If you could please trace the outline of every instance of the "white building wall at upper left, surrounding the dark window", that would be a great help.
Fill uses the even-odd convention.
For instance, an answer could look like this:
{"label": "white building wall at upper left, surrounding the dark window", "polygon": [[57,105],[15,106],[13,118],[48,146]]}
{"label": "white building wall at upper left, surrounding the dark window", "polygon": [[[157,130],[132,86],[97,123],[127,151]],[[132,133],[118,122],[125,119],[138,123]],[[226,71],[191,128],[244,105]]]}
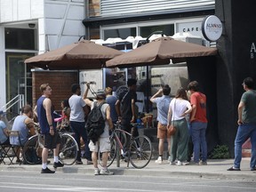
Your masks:
{"label": "white building wall at upper left, surrounding the dark window", "polygon": [[[35,23],[39,54],[75,43],[85,33],[82,23],[85,17],[84,1],[0,1],[0,86],[2,90],[5,91],[4,28],[28,28],[28,23]],[[5,98],[6,93],[0,92],[0,108],[6,103]]]}

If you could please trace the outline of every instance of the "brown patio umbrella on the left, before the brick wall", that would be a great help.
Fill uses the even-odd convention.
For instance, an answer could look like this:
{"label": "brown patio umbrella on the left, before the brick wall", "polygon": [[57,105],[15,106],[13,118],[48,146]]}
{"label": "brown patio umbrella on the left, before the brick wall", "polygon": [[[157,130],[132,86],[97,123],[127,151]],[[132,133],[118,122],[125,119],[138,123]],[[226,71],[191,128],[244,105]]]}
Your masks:
{"label": "brown patio umbrella on the left, before the brick wall", "polygon": [[92,41],[79,41],[59,49],[36,55],[25,63],[36,68],[50,69],[95,69],[102,68],[110,60],[123,52],[95,44]]}

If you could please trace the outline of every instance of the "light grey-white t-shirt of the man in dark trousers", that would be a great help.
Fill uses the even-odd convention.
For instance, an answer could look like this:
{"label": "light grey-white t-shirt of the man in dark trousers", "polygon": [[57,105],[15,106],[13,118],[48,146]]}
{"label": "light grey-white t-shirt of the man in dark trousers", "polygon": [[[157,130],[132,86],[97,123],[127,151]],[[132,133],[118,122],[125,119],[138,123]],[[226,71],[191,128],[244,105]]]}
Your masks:
{"label": "light grey-white t-shirt of the man in dark trousers", "polygon": [[85,102],[82,97],[74,94],[68,100],[70,106],[69,121],[84,122],[84,106]]}

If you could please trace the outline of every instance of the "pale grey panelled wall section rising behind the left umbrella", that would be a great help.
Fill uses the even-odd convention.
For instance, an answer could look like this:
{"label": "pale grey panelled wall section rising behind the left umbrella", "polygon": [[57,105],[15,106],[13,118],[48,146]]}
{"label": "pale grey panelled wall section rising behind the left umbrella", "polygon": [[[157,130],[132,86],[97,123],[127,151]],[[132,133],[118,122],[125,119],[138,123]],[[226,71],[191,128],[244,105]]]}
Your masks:
{"label": "pale grey panelled wall section rising behind the left umbrella", "polygon": [[38,24],[44,28],[39,30],[39,44],[45,46],[40,46],[39,52],[77,42],[85,33],[84,17],[84,0],[45,0],[44,20]]}

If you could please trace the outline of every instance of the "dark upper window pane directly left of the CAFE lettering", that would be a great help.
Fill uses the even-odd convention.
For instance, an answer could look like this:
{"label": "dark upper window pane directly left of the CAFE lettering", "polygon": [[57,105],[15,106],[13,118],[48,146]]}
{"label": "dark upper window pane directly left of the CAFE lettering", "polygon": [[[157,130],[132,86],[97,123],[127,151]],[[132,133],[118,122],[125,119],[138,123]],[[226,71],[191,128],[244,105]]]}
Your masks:
{"label": "dark upper window pane directly left of the CAFE lettering", "polygon": [[148,37],[155,31],[163,31],[165,36],[173,36],[174,24],[140,27],[140,36]]}

